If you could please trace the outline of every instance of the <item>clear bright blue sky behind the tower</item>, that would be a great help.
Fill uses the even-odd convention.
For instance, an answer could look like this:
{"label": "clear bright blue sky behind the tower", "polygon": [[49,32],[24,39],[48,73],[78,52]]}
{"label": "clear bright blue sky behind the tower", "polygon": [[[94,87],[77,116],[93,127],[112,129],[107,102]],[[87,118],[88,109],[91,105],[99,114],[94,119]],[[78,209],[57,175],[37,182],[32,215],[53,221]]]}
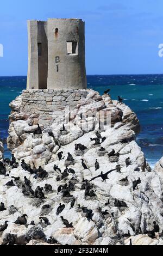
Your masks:
{"label": "clear bright blue sky behind the tower", "polygon": [[0,76],[27,75],[27,20],[83,19],[87,74],[162,74],[162,0],[5,0],[0,4]]}

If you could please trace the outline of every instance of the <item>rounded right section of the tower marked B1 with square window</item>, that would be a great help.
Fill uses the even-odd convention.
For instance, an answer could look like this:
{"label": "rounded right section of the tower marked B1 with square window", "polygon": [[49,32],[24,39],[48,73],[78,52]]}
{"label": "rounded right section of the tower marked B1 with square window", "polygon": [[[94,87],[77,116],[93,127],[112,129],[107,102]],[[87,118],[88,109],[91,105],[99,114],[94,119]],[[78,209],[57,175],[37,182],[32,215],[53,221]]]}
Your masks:
{"label": "rounded right section of the tower marked B1 with square window", "polygon": [[77,19],[49,19],[47,88],[86,87],[85,23]]}

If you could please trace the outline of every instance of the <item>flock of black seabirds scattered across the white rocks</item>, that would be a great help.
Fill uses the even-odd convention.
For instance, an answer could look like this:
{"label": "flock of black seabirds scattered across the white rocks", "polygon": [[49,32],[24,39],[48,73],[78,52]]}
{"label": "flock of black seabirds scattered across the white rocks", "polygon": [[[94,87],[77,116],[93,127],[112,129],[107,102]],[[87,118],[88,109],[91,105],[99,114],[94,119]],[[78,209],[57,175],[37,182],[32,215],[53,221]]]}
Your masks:
{"label": "flock of black seabirds scattered across the white rocks", "polygon": [[[109,90],[105,91],[105,94],[107,94],[109,92]],[[118,96],[118,100],[119,102],[122,102],[123,99],[121,99],[120,96]],[[65,126],[63,125],[63,129],[65,130]],[[42,130],[40,128],[40,126],[38,125],[37,130],[34,132],[34,135],[40,135],[42,134]],[[54,138],[54,135],[52,132],[48,132],[49,136]],[[55,139],[55,138],[54,138]],[[96,132],[96,138],[91,138],[91,141],[95,141],[94,145],[101,145],[104,141],[105,141],[105,137],[102,137],[100,132]],[[57,141],[57,139],[55,139],[55,142],[59,145],[59,142]],[[60,145],[59,145],[60,146]],[[87,148],[85,147],[85,145],[82,144],[75,144],[75,151],[77,150],[86,150]],[[99,149],[99,151],[105,151],[105,149],[103,147],[101,147]],[[63,157],[63,151],[60,151],[58,153],[58,159],[59,161],[65,159],[65,157]],[[119,157],[120,154],[116,153],[115,150],[113,149],[110,153],[108,153],[108,157]],[[75,161],[73,159],[73,156],[68,153],[67,159],[66,161],[69,162],[73,162]],[[131,164],[131,160],[130,158],[126,159],[126,167],[128,167]],[[71,165],[71,164],[70,164]],[[4,176],[9,176],[10,172],[7,174],[7,166],[10,166],[12,169],[17,168],[19,166],[18,162],[16,162],[16,159],[14,157],[14,154],[12,154],[11,160],[10,159],[5,159],[4,162],[0,161],[0,175],[4,175]],[[82,159],[82,166],[83,168],[89,169],[89,167],[87,167],[87,164],[84,162],[84,160]],[[46,172],[45,169],[43,169],[41,166],[36,169],[31,168],[29,164],[27,164],[24,160],[22,160],[21,162],[21,167],[24,171],[29,172],[30,174],[34,175],[34,179],[46,179],[48,177],[48,173]],[[68,166],[66,166],[66,169],[64,170],[64,172],[61,172],[61,169],[59,168],[59,166],[57,166],[56,164],[54,164],[54,171],[58,172],[58,177],[57,177],[57,181],[62,181],[64,180],[66,182],[67,177],[72,174],[74,175],[76,172],[74,169],[72,168],[68,168]],[[98,160],[96,159],[95,162],[95,170],[97,171],[98,169],[100,169],[100,163],[98,162]],[[101,172],[101,174],[93,177],[90,181],[83,179],[82,181],[82,186],[81,186],[81,190],[85,190],[85,199],[87,197],[97,197],[95,191],[93,191],[93,185],[90,183],[91,181],[101,178],[103,182],[106,182],[106,180],[108,180],[108,175],[111,172],[117,171],[118,173],[121,173],[121,166],[118,164],[115,169],[109,170],[106,173]],[[5,186],[16,186],[15,183],[20,181],[20,177],[15,177],[15,176],[11,176],[11,178],[13,180],[7,182],[7,184],[5,184]],[[14,183],[15,181],[15,183]],[[62,198],[70,198],[71,199],[71,203],[70,203],[70,209],[72,209],[74,207],[74,205],[76,204],[76,199],[71,195],[71,192],[76,190],[76,186],[74,185],[76,182],[76,178],[73,178],[67,183],[65,183],[64,185],[60,185],[58,187],[58,194],[61,193],[62,194]],[[128,177],[124,178],[121,180],[121,182],[126,182],[128,181]],[[133,191],[136,189],[137,185],[139,185],[141,183],[141,179],[139,178],[138,180],[133,181]],[[24,196],[32,196],[33,198],[39,198],[39,199],[46,199],[45,197],[45,193],[43,192],[45,190],[46,193],[49,192],[53,192],[53,188],[51,185],[46,184],[45,187],[40,187],[37,186],[35,190],[32,189],[32,184],[31,181],[29,179],[27,179],[27,176],[24,176],[24,184],[21,187],[22,189],[22,193],[24,194]],[[105,206],[110,205],[110,199],[108,199],[108,202],[105,203]],[[122,200],[118,200],[115,199],[114,202],[114,206],[117,208],[127,208],[127,204],[125,202],[123,202]],[[14,208],[14,205],[12,205],[12,207]],[[59,216],[61,214],[62,211],[64,211],[66,205],[65,204],[59,204],[58,208],[57,208],[57,216]],[[42,209],[49,209],[50,205],[43,205]],[[88,221],[92,221],[92,217],[93,217],[93,211],[91,209],[87,209],[86,207],[81,207],[80,205],[77,206],[78,211],[83,212],[83,214],[85,215],[85,217],[87,218]],[[16,209],[16,208],[15,208]],[[5,208],[4,203],[1,203],[0,205],[0,211],[5,211],[7,210]],[[99,213],[101,214],[101,216],[103,218],[105,218],[105,216],[109,215],[108,210],[102,211],[101,208],[98,208]],[[111,213],[112,218],[114,218],[114,212]],[[36,225],[34,221],[32,221],[30,224],[27,224],[27,215],[24,214],[21,217],[18,217],[17,220],[15,221],[15,224],[18,225],[25,225],[26,227],[28,227],[28,225]],[[65,225],[66,228],[73,228],[73,223],[69,223],[66,219],[64,219],[64,217],[60,217],[62,223]],[[44,223],[45,225],[51,225],[51,223],[49,222],[47,217],[40,217],[40,222],[39,224]],[[147,234],[148,236],[154,238],[155,237],[155,232],[159,232],[159,226],[156,224],[156,222],[153,222],[154,224],[154,229],[152,231],[148,231]],[[1,225],[0,227],[0,232],[4,231],[5,229],[7,229],[8,227],[8,221],[5,221],[5,223],[3,225]],[[122,237],[129,237],[130,233],[128,232],[128,234],[123,234],[121,236]],[[163,236],[163,231],[160,234],[160,236]],[[8,235],[7,240],[8,240],[8,245],[14,245],[14,236],[12,235]],[[48,243],[58,243],[57,240],[54,239],[54,237],[49,237],[49,240],[47,241]],[[130,244],[131,244],[131,240],[130,240]]]}

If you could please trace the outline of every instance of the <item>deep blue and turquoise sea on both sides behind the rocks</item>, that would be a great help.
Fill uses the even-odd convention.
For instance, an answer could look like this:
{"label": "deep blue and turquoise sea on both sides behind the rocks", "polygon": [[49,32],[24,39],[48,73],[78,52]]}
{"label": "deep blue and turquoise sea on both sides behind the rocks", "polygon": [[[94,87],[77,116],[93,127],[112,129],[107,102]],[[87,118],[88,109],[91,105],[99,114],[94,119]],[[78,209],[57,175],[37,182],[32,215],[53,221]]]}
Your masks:
{"label": "deep blue and turquoise sea on both sides behind the rocks", "polygon": [[[9,102],[26,88],[27,77],[0,77],[0,137],[7,138]],[[111,89],[112,99],[120,95],[140,119],[137,143],[154,166],[163,155],[163,75],[87,76],[87,86],[103,94]],[[5,156],[9,156],[5,148]]]}

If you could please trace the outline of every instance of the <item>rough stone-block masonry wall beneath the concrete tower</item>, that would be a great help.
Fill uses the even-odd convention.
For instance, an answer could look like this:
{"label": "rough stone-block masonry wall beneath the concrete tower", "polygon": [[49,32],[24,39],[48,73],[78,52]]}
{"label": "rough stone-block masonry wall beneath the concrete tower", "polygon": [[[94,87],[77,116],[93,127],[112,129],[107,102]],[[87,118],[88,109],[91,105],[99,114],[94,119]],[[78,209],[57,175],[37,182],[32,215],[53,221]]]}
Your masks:
{"label": "rough stone-block masonry wall beneath the concrete tower", "polygon": [[73,89],[40,89],[23,90],[20,112],[32,115],[38,123],[47,127],[53,123],[59,123],[65,119],[65,109],[73,111],[79,100],[85,99],[87,90]]}

